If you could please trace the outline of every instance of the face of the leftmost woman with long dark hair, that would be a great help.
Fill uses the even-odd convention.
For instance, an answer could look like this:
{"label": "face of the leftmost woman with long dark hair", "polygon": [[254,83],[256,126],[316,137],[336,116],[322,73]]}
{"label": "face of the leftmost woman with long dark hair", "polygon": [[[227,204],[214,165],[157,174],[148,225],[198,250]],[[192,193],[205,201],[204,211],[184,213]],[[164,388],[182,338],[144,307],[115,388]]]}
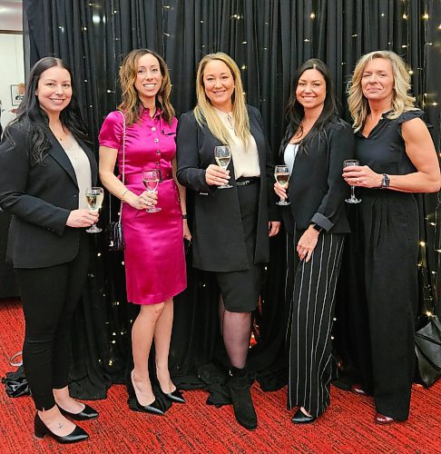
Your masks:
{"label": "face of the leftmost woman with long dark hair", "polygon": [[38,80],[35,95],[40,107],[49,116],[59,115],[71,102],[71,75],[61,66],[46,69]]}

